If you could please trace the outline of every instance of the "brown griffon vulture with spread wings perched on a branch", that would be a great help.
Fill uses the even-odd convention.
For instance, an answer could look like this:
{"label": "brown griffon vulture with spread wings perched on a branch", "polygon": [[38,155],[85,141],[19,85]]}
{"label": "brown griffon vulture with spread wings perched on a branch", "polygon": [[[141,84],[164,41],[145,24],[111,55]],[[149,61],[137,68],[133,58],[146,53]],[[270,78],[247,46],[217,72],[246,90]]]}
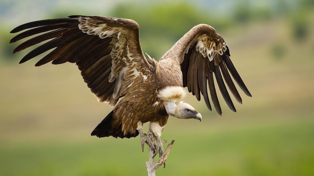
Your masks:
{"label": "brown griffon vulture with spread wings perched on a branch", "polygon": [[113,107],[91,135],[129,138],[139,134],[143,149],[149,137],[143,133],[142,124],[148,122],[148,130],[154,135],[155,153],[161,154],[160,136],[169,115],[202,118],[192,105],[182,101],[187,94],[184,87],[198,100],[202,94],[208,109],[212,110],[210,94],[220,115],[215,82],[233,111],[236,109],[226,87],[242,103],[233,80],[251,96],[230,60],[226,42],[207,24],[194,26],[159,61],[148,54],[145,57],[139,42],[139,25],[131,19],[72,15],[25,23],[11,33],[22,30],[25,31],[13,37],[10,43],[30,38],[13,53],[37,44],[38,47],[27,53],[20,63],[45,51],[49,52],[44,53],[36,66],[50,61],[53,64],[76,63],[98,101],[108,102]]}

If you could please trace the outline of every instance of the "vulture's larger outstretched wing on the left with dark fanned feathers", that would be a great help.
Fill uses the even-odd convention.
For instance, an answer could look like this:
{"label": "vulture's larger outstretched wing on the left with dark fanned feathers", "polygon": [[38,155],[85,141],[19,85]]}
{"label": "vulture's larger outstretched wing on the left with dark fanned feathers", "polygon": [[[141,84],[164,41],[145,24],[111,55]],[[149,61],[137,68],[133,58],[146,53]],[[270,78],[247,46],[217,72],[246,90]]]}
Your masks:
{"label": "vulture's larger outstretched wing on the left with dark fanned feathers", "polygon": [[25,29],[10,42],[32,37],[17,46],[14,53],[45,42],[26,54],[20,63],[48,50],[36,66],[50,61],[75,62],[98,100],[111,106],[126,94],[137,76],[145,77],[152,69],[151,60],[144,57],[139,44],[139,26],[131,19],[69,16],[22,24],[11,33]]}

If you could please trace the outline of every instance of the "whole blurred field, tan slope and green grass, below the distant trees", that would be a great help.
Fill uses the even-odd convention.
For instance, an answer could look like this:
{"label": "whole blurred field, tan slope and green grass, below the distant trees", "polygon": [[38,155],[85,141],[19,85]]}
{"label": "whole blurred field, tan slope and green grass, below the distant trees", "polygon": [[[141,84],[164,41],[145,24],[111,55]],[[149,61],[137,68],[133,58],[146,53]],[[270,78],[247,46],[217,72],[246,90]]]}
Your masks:
{"label": "whole blurred field, tan slope and green grass, below the distant trees", "polygon": [[[253,97],[219,116],[189,96],[203,120],[169,119],[162,138],[176,141],[156,174],[314,175],[313,35],[294,41],[285,20],[221,34]],[[0,66],[0,175],[146,175],[138,137],[89,136],[110,108],[76,66],[34,63]]]}

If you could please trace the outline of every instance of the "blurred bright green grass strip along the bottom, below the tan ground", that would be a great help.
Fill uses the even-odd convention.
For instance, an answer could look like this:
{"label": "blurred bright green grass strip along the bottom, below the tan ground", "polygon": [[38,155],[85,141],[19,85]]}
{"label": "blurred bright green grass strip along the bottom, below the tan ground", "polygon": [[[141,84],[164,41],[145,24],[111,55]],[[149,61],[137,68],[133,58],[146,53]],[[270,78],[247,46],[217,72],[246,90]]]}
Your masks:
{"label": "blurred bright green grass strip along the bottom, below the tan ground", "polygon": [[[310,121],[310,122],[309,122]],[[313,175],[314,121],[173,132],[158,175]],[[187,124],[180,124],[188,127]],[[172,132],[170,132],[172,131]],[[185,130],[186,131],[186,130]],[[166,134],[167,133],[167,134]],[[146,175],[139,139],[23,142],[1,147],[1,175]]]}

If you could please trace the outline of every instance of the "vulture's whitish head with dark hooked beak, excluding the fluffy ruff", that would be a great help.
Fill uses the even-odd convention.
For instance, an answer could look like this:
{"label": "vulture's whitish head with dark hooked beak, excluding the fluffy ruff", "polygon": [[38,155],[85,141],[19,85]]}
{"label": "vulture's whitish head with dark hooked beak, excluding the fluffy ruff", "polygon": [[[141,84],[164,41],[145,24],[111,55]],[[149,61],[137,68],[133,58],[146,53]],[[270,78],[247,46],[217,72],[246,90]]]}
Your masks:
{"label": "vulture's whitish head with dark hooked beak, excluding the fluffy ruff", "polygon": [[165,101],[165,108],[168,114],[177,118],[195,118],[201,121],[202,115],[195,110],[195,108],[189,103],[180,101],[178,105],[173,101]]}

